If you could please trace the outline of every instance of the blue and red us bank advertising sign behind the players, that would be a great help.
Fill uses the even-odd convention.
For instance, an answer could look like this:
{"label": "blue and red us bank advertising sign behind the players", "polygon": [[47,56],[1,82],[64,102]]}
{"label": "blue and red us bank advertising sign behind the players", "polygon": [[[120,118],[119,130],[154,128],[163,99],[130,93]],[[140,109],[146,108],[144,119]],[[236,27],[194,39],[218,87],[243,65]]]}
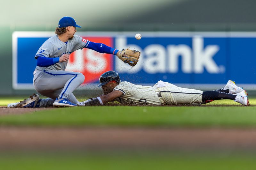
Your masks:
{"label": "blue and red us bank advertising sign behind the players", "polygon": [[[163,80],[183,87],[210,88],[231,79],[247,89],[256,87],[256,33],[246,32],[80,32],[77,35],[118,50],[141,52],[133,68],[117,56],[83,48],[70,55],[66,70],[85,76],[83,87],[96,86],[108,70],[119,73],[122,81],[153,85]],[[13,88],[33,89],[34,58],[52,32],[14,32]],[[221,87],[220,87],[221,88]]]}

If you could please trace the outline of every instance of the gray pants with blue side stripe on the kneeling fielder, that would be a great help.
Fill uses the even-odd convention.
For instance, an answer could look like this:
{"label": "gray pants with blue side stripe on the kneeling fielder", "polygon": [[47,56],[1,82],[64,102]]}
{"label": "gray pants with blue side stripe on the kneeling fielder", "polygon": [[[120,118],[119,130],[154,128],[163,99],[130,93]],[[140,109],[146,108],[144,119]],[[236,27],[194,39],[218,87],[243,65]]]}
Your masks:
{"label": "gray pants with blue side stripe on the kneeling fielder", "polygon": [[41,99],[40,107],[52,106],[56,98],[65,98],[74,104],[77,99],[72,93],[84,82],[84,75],[79,72],[62,70],[34,71],[34,88],[47,99]]}

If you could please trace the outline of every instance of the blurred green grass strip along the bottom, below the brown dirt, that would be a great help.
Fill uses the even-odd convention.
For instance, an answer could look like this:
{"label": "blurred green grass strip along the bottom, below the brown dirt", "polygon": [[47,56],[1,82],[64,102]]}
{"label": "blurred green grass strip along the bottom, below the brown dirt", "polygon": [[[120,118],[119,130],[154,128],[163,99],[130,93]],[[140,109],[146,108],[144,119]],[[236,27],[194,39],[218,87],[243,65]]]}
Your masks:
{"label": "blurred green grass strip along the bottom, below the brown dirt", "polygon": [[[255,169],[253,155],[182,155],[182,154],[17,154],[0,157],[5,170],[240,170]],[[15,163],[14,163],[15,162]]]}

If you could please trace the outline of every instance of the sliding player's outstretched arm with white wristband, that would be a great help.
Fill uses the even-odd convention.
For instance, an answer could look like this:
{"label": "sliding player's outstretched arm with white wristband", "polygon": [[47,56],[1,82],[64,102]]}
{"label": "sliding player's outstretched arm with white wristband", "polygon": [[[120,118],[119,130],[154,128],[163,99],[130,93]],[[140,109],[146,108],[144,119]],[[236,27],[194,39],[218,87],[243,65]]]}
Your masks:
{"label": "sliding player's outstretched arm with white wristband", "polygon": [[106,95],[101,95],[100,97],[97,97],[96,99],[89,101],[85,103],[85,106],[100,106],[108,103],[109,101],[112,101],[118,97],[123,95],[123,92],[119,90],[114,90],[113,92],[110,92]]}

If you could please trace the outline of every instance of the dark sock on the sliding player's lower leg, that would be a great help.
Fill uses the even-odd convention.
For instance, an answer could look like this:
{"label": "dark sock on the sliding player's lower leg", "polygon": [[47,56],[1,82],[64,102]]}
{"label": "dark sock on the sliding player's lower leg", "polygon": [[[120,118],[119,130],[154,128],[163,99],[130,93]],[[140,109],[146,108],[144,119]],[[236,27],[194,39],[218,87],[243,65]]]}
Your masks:
{"label": "dark sock on the sliding player's lower leg", "polygon": [[207,100],[221,100],[221,99],[230,99],[236,100],[236,95],[219,92],[219,91],[206,91],[203,92],[203,104],[206,103]]}

